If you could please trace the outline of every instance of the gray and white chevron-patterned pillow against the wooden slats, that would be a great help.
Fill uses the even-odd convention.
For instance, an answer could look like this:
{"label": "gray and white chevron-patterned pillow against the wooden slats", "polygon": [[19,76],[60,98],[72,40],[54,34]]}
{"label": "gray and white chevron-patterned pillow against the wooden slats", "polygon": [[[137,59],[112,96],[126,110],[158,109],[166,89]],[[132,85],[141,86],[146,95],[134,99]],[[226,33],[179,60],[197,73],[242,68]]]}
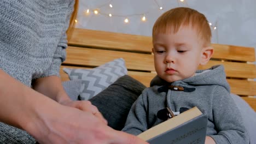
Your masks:
{"label": "gray and white chevron-patterned pillow against the wooden slats", "polygon": [[94,69],[63,68],[70,80],[82,80],[82,93],[79,98],[88,100],[106,89],[119,77],[127,74],[127,68],[123,58],[103,64]]}

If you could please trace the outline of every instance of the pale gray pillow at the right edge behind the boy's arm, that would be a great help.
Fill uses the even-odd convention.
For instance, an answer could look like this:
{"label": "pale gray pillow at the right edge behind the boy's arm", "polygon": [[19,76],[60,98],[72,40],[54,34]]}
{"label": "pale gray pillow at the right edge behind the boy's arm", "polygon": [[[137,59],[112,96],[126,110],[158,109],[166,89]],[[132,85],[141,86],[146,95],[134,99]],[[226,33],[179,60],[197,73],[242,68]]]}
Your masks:
{"label": "pale gray pillow at the right edge behind the boy's arm", "polygon": [[256,112],[238,95],[232,93],[230,95],[241,112],[243,122],[250,136],[250,143],[256,143]]}

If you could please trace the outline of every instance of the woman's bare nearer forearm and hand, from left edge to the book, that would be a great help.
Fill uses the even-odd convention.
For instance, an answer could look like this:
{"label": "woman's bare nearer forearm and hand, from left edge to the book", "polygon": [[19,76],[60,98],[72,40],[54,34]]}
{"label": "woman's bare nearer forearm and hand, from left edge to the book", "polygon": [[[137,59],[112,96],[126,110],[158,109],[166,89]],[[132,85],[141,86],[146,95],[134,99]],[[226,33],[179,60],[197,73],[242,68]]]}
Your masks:
{"label": "woman's bare nearer forearm and hand, from left edge to the book", "polygon": [[56,103],[1,69],[0,80],[0,121],[26,130],[39,143],[146,143],[107,127],[90,111]]}

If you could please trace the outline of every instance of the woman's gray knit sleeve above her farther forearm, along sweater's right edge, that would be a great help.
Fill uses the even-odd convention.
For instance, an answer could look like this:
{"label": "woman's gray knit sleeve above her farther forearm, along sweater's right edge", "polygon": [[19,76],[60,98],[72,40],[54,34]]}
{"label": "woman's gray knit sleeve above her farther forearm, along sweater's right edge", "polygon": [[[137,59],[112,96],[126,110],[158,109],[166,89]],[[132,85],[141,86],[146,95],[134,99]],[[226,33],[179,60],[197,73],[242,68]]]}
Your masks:
{"label": "woman's gray knit sleeve above her farther forearm, along sweater's right edge", "polygon": [[68,6],[67,15],[66,15],[66,23],[62,30],[62,36],[60,38],[60,41],[57,45],[57,48],[54,53],[53,61],[51,62],[50,67],[44,71],[43,75],[41,77],[46,76],[60,76],[60,65],[62,62],[66,59],[66,48],[67,48],[67,34],[66,31],[69,26],[69,20],[71,18],[71,14],[74,10],[74,1],[71,1],[71,3]]}

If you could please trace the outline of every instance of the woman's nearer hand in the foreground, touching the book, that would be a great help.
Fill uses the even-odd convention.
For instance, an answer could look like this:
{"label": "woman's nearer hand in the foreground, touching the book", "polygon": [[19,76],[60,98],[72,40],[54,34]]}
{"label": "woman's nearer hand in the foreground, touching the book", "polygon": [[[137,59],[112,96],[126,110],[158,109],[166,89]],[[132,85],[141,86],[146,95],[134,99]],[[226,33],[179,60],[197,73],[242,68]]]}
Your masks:
{"label": "woman's nearer hand in the foreground, touching the book", "polygon": [[136,136],[108,127],[87,110],[60,104],[40,107],[39,116],[27,125],[27,130],[39,143],[147,143]]}

